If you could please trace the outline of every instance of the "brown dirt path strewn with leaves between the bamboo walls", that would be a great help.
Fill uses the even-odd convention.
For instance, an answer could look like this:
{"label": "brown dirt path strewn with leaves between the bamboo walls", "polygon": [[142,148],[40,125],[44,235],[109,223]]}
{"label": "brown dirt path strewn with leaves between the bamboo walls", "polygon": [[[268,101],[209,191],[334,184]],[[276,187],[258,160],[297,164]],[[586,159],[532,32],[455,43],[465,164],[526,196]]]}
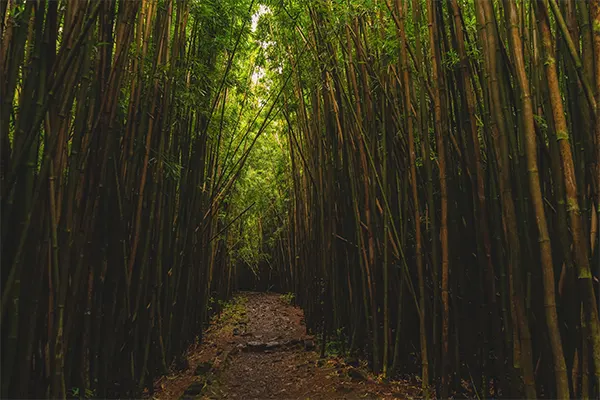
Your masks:
{"label": "brown dirt path strewn with leaves between the bamboo walls", "polygon": [[186,356],[185,368],[158,379],[149,398],[412,399],[421,394],[417,382],[384,382],[357,361],[320,358],[302,310],[279,294],[236,295]]}

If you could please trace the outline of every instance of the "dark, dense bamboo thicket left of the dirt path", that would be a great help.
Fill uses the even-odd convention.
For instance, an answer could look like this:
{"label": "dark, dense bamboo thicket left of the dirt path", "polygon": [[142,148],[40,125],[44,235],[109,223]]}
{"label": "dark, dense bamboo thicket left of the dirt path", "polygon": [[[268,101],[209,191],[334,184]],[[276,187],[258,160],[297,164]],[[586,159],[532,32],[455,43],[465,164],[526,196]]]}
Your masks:
{"label": "dark, dense bamboo thicket left of the dirt path", "polygon": [[231,293],[249,7],[0,2],[3,398],[138,397]]}

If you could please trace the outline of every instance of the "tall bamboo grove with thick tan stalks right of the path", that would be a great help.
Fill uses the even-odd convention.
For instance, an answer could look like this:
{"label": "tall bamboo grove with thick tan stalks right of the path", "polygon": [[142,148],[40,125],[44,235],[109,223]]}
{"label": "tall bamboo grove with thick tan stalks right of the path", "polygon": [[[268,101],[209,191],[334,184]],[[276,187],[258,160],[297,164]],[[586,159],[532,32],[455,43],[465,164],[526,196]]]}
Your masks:
{"label": "tall bamboo grove with thick tan stalks right of the path", "polygon": [[285,240],[323,344],[420,374],[425,396],[598,395],[599,9],[315,1],[274,18],[293,74]]}

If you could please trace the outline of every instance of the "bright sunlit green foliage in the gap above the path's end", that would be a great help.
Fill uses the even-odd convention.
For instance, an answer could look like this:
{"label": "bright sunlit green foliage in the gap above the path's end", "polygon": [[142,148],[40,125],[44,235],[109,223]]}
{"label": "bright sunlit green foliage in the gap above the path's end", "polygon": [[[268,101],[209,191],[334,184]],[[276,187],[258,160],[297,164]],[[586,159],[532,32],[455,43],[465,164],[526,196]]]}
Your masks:
{"label": "bright sunlit green foliage in the gap above the path's end", "polygon": [[231,262],[249,267],[256,275],[259,268],[270,265],[277,238],[284,234],[289,203],[289,154],[285,137],[287,124],[276,112],[266,119],[266,110],[273,102],[273,93],[282,83],[283,65],[287,65],[281,40],[275,39],[281,31],[275,24],[278,16],[267,5],[257,6],[253,17],[254,29],[245,48],[245,56],[236,60],[239,72],[230,82],[231,89],[223,112],[224,120],[213,121],[213,134],[223,125],[222,151],[231,150],[232,156],[223,158],[222,168],[232,170],[240,161],[242,150],[252,145],[252,152],[244,161],[244,169],[228,198],[230,221],[252,206],[236,221],[228,234]]}

